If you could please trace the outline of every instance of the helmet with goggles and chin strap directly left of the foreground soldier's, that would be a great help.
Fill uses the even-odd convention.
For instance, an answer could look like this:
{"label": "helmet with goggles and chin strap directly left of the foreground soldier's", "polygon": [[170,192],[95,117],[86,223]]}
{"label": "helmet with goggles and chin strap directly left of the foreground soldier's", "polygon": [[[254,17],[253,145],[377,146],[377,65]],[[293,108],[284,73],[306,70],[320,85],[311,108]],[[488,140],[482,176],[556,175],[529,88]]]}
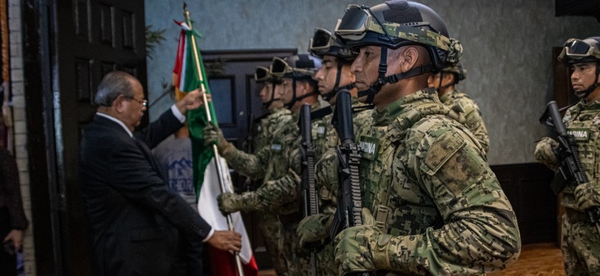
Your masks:
{"label": "helmet with goggles and chin strap directly left of the foreground soldier's", "polygon": [[321,97],[330,101],[339,90],[342,89],[352,89],[354,88],[354,83],[350,83],[346,86],[339,86],[339,81],[341,79],[341,68],[344,64],[350,64],[354,59],[356,59],[358,53],[348,49],[346,46],[343,46],[343,43],[337,37],[331,35],[331,32],[325,29],[316,28],[314,29],[314,34],[312,39],[310,39],[310,43],[308,46],[308,52],[310,54],[323,59],[325,56],[336,57],[337,59],[337,75],[335,77],[335,84],[333,90],[321,94]]}

